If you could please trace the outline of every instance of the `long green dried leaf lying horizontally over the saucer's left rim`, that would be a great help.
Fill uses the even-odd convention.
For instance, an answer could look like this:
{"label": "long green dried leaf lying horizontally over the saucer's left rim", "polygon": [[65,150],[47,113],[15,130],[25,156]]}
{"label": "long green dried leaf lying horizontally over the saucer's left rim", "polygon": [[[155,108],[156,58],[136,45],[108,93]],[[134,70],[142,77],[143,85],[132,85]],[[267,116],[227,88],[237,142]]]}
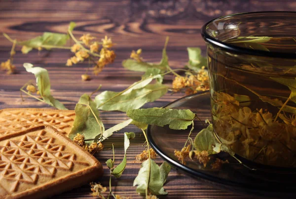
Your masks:
{"label": "long green dried leaf lying horizontally over the saucer's left rim", "polygon": [[188,109],[131,109],[126,114],[138,122],[157,126],[169,125],[171,129],[186,129],[195,117],[195,114]]}

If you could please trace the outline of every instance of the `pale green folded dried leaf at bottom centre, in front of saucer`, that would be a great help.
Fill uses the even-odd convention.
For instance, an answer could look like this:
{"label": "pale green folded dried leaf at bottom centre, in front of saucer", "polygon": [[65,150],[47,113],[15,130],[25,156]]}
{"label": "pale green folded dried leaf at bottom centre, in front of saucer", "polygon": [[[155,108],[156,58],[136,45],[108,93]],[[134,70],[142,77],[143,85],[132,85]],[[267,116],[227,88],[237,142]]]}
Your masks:
{"label": "pale green folded dried leaf at bottom centre, in front of saucer", "polygon": [[151,159],[143,162],[138,176],[135,178],[133,184],[133,186],[138,185],[136,192],[144,194],[146,193],[146,187],[148,186],[151,194],[166,195],[167,192],[164,191],[163,184],[170,172],[170,169],[170,166],[165,162],[160,167]]}

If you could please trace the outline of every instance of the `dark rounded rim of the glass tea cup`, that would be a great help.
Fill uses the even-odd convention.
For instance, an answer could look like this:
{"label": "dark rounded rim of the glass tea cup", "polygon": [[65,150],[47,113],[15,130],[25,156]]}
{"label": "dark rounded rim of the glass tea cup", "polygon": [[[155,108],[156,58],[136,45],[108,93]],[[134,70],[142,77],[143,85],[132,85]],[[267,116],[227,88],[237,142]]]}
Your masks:
{"label": "dark rounded rim of the glass tea cup", "polygon": [[214,37],[210,36],[206,28],[209,24],[214,22],[218,19],[223,19],[231,16],[239,16],[239,15],[246,15],[246,14],[271,14],[271,13],[294,13],[296,14],[296,11],[260,11],[260,12],[242,12],[242,13],[236,13],[236,14],[230,14],[230,15],[224,15],[222,17],[215,18],[209,22],[207,22],[203,27],[201,28],[201,36],[206,42],[209,42],[212,45],[215,45],[217,47],[222,48],[223,50],[239,53],[239,54],[248,54],[253,56],[261,56],[261,57],[278,57],[278,58],[291,58],[296,59],[296,53],[283,53],[283,52],[269,52],[269,51],[262,51],[262,50],[255,50],[255,49],[248,49],[244,47],[235,46],[229,43],[222,42],[218,39],[215,39]]}

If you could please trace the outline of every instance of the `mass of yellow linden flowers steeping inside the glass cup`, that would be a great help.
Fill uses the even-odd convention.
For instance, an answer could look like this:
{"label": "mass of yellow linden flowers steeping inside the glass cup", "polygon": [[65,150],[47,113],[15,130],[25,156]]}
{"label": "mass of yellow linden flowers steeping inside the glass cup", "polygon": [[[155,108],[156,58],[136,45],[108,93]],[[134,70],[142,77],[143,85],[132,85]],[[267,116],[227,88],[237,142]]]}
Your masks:
{"label": "mass of yellow linden flowers steeping inside the glass cup", "polygon": [[261,164],[296,166],[295,114],[252,111],[250,103],[239,102],[224,92],[214,92],[212,99],[213,125],[235,153]]}

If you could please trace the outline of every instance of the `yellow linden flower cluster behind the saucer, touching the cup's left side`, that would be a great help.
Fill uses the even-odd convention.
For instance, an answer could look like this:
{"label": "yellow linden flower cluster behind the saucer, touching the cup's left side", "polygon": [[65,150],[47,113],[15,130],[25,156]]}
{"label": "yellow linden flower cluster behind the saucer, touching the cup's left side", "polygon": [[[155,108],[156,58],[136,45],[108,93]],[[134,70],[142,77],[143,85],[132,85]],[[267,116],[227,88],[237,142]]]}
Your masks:
{"label": "yellow linden flower cluster behind the saucer, touching the cup's left side", "polygon": [[185,77],[176,76],[172,86],[175,92],[180,91],[182,88],[186,88],[186,95],[196,93],[198,91],[208,90],[210,87],[208,72],[203,66],[196,75],[189,75]]}

